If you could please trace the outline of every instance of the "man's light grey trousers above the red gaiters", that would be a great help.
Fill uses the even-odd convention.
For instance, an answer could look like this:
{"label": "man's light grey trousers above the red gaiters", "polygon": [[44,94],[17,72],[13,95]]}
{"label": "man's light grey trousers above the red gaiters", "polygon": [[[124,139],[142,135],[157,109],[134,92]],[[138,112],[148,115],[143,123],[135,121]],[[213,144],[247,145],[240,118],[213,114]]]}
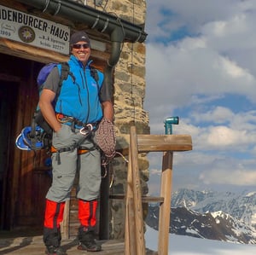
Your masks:
{"label": "man's light grey trousers above the red gaiters", "polygon": [[[62,125],[61,130],[53,134],[55,148],[67,148],[83,139],[79,130],[73,132],[69,125]],[[85,139],[81,144],[84,148],[93,148],[93,142]],[[70,197],[76,172],[79,171],[77,197],[81,200],[96,200],[99,197],[101,177],[101,154],[97,149],[85,154],[78,154],[78,149],[62,152],[61,164],[58,164],[56,154],[52,155],[53,180],[46,195],[48,200],[66,201]]]}

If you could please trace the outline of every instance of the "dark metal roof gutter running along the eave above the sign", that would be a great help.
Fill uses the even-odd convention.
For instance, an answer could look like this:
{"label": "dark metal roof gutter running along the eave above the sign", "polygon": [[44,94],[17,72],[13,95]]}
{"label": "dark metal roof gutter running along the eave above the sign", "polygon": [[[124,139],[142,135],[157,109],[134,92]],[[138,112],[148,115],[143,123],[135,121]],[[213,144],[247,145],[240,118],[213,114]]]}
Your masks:
{"label": "dark metal roof gutter running along the eave above the sign", "polygon": [[[96,29],[99,32],[111,35],[117,28],[122,28],[124,31],[123,41],[143,43],[147,38],[147,33],[144,32],[144,25],[139,26],[132,24],[129,21],[122,20],[115,15],[93,9],[90,6],[82,5],[70,0],[17,0],[20,3],[25,3],[36,9],[40,9],[44,13],[52,15],[60,15],[68,20],[82,22],[88,24],[90,28]],[[122,42],[123,42],[122,41]]]}

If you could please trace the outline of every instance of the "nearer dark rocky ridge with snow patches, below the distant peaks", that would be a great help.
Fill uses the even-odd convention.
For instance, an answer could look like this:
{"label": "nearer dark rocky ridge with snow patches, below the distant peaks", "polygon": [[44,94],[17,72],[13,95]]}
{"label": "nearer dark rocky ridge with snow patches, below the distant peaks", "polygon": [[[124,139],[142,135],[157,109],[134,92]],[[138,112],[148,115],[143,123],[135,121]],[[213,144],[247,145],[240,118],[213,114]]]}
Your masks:
{"label": "nearer dark rocky ridge with snow patches, below the distant peaks", "polygon": [[[146,223],[158,230],[159,206],[148,206]],[[198,238],[256,244],[256,230],[224,212],[200,213],[185,207],[172,208],[169,232]]]}

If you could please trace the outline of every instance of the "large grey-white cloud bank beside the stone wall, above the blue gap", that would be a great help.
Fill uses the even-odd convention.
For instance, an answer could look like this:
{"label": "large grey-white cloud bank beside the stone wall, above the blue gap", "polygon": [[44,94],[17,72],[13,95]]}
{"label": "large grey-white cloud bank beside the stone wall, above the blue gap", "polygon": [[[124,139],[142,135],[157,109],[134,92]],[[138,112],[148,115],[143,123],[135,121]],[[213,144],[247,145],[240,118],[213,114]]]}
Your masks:
{"label": "large grey-white cloud bank beside the stone wall, above the blue gap", "polygon": [[206,48],[198,38],[186,38],[177,45],[148,43],[146,73],[148,109],[183,107],[192,103],[191,97],[198,93],[235,93],[256,101],[253,75],[235,61]]}

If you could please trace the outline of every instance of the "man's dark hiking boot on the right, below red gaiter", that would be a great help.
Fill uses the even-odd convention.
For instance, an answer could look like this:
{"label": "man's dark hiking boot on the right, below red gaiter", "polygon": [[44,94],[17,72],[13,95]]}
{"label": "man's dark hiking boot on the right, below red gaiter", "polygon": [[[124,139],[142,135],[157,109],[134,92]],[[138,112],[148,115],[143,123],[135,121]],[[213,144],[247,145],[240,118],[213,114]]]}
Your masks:
{"label": "man's dark hiking boot on the right, below red gaiter", "polygon": [[96,244],[94,238],[94,231],[88,230],[84,227],[80,227],[78,249],[87,252],[100,252],[102,251],[102,246]]}

